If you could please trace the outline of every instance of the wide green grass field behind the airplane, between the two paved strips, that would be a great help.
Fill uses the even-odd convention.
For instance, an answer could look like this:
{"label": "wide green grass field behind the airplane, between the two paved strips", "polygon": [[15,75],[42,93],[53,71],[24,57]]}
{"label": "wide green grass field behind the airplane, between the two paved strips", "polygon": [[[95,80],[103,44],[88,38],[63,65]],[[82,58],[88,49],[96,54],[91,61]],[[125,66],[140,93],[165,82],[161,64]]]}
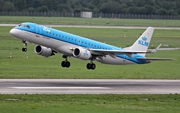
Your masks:
{"label": "wide green grass field behind the airplane, between the two paved strips", "polygon": [[[175,61],[152,62],[147,65],[113,66],[98,62],[97,69],[89,71],[86,64],[89,61],[69,58],[69,69],[60,66],[61,54],[44,58],[34,53],[34,44],[28,45],[28,52],[21,52],[20,40],[9,34],[12,27],[0,28],[0,78],[104,78],[104,79],[180,79],[180,51],[158,51],[148,54],[148,57],[174,58]],[[126,47],[134,43],[137,36],[144,30],[139,29],[92,29],[92,28],[57,28],[77,35],[106,42],[112,45]],[[124,38],[126,34],[126,38]],[[179,30],[155,30],[151,47],[160,43],[179,47]],[[12,58],[9,58],[10,53]],[[28,56],[28,58],[27,58]],[[131,71],[129,71],[131,70]]]}

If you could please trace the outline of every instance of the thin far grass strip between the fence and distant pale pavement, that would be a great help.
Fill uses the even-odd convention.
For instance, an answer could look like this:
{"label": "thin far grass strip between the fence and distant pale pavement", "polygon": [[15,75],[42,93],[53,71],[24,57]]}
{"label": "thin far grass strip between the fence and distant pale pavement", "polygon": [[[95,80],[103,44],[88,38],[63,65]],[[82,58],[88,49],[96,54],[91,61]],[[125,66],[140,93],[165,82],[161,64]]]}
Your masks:
{"label": "thin far grass strip between the fence and distant pale pavement", "polygon": [[38,24],[60,25],[101,25],[101,26],[171,26],[179,27],[179,20],[155,19],[111,19],[111,18],[67,18],[67,17],[28,17],[28,16],[0,16],[0,23],[20,24],[35,22]]}

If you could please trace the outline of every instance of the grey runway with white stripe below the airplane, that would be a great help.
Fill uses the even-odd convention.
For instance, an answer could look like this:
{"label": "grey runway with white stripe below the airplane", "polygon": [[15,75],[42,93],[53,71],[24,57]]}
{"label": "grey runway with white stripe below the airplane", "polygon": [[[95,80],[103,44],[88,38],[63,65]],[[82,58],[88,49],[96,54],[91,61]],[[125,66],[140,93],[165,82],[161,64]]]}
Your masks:
{"label": "grey runway with white stripe below the airplane", "polygon": [[180,80],[0,79],[0,94],[180,94]]}

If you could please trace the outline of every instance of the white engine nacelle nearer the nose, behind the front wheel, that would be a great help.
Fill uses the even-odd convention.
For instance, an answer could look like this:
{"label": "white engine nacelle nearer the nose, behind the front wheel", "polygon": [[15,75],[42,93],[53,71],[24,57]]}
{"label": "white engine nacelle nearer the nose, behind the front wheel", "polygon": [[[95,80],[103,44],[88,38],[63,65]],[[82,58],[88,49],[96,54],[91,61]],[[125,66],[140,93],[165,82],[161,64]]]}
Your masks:
{"label": "white engine nacelle nearer the nose, behind the front wheel", "polygon": [[40,45],[35,46],[34,51],[36,54],[44,57],[49,57],[54,55],[52,49]]}

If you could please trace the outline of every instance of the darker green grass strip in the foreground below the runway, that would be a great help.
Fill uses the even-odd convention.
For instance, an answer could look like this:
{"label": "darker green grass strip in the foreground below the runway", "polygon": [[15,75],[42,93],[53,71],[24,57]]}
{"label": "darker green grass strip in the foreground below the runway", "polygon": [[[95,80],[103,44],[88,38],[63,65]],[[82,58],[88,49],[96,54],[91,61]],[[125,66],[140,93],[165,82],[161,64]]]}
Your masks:
{"label": "darker green grass strip in the foreground below the runway", "polygon": [[0,95],[1,113],[179,113],[180,95]]}

